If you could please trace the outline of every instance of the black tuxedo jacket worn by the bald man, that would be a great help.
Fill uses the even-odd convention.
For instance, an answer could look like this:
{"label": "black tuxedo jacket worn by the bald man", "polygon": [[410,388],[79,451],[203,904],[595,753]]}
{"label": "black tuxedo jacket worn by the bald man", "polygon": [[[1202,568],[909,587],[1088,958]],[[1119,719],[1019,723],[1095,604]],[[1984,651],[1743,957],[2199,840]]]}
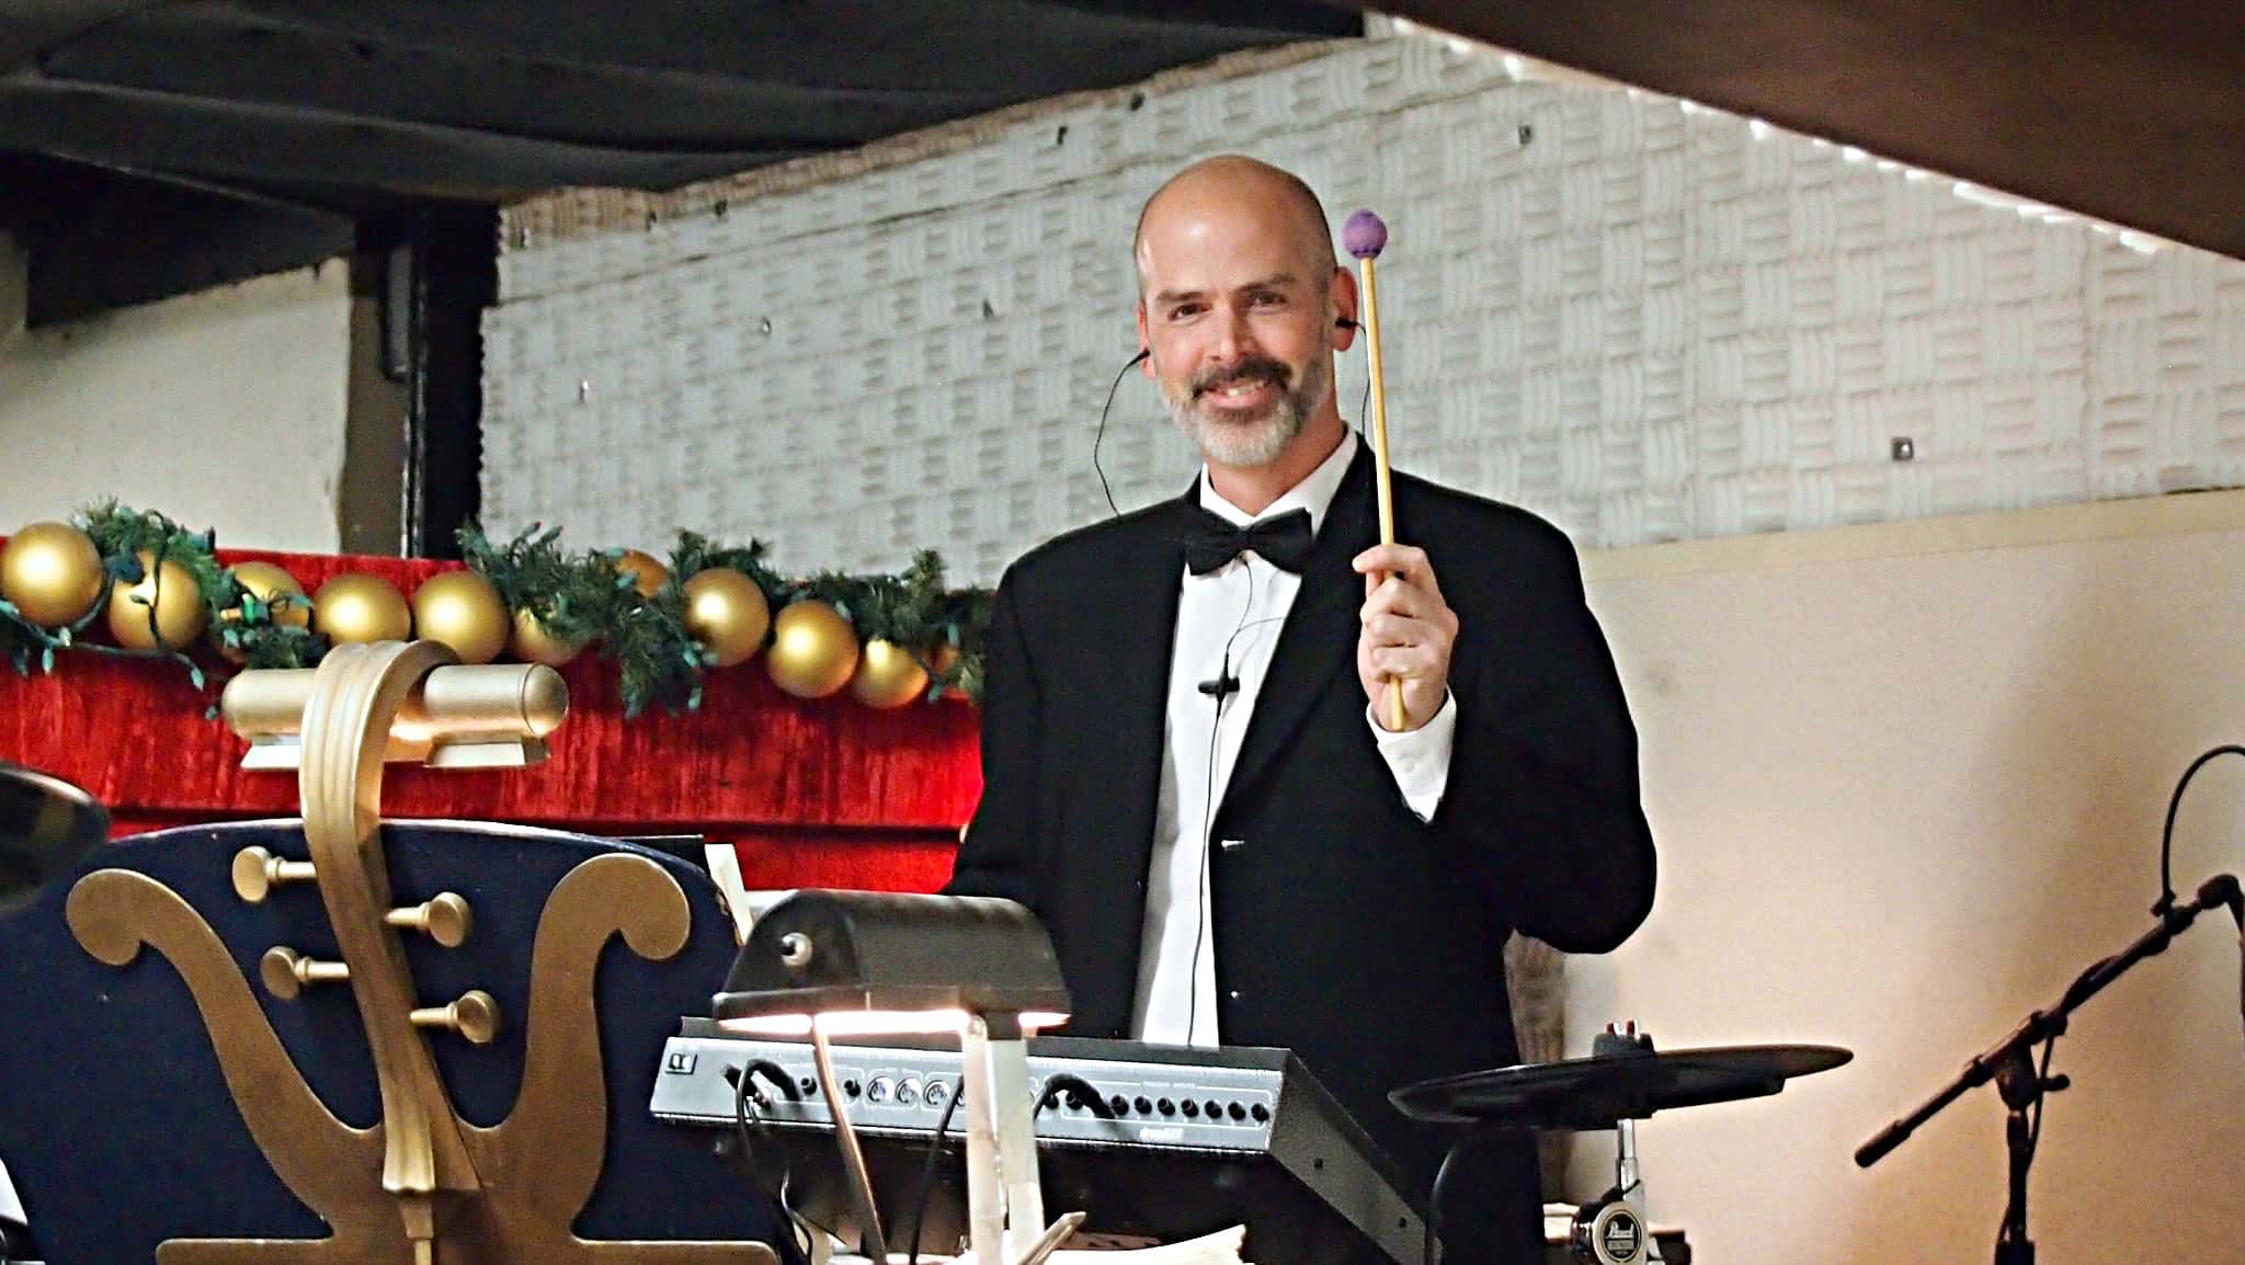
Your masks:
{"label": "black tuxedo jacket worn by the bald man", "polygon": [[[1064,535],[1015,562],[995,600],[983,798],[950,890],[1037,912],[1075,1036],[1131,1022],[1194,506],[1188,492]],[[1208,892],[1221,1038],[1300,1054],[1423,1193],[1448,1139],[1387,1092],[1518,1063],[1506,937],[1621,944],[1652,905],[1655,856],[1637,732],[1567,537],[1401,472],[1394,515],[1459,618],[1441,807],[1432,822],[1410,811],[1365,719],[1365,582],[1349,559],[1378,542],[1378,519],[1358,449],[1215,809]],[[1502,1193],[1513,1236],[1533,1225],[1518,1220],[1533,1218],[1527,1164],[1515,1146],[1502,1191],[1473,1182],[1475,1204]]]}

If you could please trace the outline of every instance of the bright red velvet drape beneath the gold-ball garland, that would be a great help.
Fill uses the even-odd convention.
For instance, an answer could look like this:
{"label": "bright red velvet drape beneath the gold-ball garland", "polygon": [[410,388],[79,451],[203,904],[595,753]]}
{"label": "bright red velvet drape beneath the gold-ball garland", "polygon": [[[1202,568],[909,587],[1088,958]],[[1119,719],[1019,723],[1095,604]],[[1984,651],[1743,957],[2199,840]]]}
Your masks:
{"label": "bright red velvet drape beneath the gold-ball garland", "polygon": [[[406,595],[458,564],[222,550],[276,562],[308,593],[343,571]],[[97,622],[99,627],[99,622]],[[534,768],[447,773],[391,766],[384,813],[469,818],[590,834],[732,840],[750,888],[934,890],[981,793],[977,712],[961,701],[876,712],[849,697],[801,701],[761,661],[712,672],[691,715],[626,721],[613,665],[561,672],[570,717]],[[182,822],[294,816],[290,773],[242,773],[242,739],[204,719],[173,663],[58,656],[52,676],[0,667],[0,759],[99,795],[119,834]]]}

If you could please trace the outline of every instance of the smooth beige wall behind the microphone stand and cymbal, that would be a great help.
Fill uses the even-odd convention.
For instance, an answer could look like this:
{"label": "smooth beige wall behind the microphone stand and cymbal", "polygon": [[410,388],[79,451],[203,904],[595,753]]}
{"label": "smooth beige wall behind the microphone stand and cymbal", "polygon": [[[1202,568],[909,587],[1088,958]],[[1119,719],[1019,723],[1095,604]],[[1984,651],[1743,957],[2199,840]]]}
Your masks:
{"label": "smooth beige wall behind the microphone stand and cymbal", "polygon": [[[2009,542],[2009,544],[2007,544]],[[1704,1261],[1985,1261],[2003,1108],[1850,1155],[2151,926],[2184,766],[2245,739],[2245,497],[2207,494],[1592,555],[1661,843],[1652,919],[1569,962],[1569,1054],[1832,1043],[1854,1063],[1639,1130]],[[2193,782],[2175,881],[2245,867],[2245,759]],[[2052,1265],[2234,1263],[2238,937],[2200,921],[2077,1018],[2032,1234]],[[1578,1141],[1576,1193],[1612,1180]]]}

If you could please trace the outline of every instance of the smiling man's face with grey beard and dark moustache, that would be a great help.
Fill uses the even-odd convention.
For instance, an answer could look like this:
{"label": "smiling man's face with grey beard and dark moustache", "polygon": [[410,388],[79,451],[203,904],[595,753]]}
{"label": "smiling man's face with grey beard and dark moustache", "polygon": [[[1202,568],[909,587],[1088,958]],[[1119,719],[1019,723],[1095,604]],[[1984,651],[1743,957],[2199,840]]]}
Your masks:
{"label": "smiling man's face with grey beard and dark moustache", "polygon": [[1210,465],[1271,465],[1331,395],[1334,270],[1295,220],[1259,191],[1190,193],[1147,213],[1147,371]]}

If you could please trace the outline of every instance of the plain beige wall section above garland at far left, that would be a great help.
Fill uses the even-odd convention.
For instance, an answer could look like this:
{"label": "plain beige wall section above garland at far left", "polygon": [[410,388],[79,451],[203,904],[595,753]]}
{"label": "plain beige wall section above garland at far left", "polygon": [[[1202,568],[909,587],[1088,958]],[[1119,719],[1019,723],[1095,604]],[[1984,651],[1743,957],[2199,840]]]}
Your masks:
{"label": "plain beige wall section above garland at far left", "polygon": [[[13,261],[13,263],[9,263]],[[0,533],[101,497],[220,544],[335,553],[350,380],[343,261],[22,330],[0,249]]]}

